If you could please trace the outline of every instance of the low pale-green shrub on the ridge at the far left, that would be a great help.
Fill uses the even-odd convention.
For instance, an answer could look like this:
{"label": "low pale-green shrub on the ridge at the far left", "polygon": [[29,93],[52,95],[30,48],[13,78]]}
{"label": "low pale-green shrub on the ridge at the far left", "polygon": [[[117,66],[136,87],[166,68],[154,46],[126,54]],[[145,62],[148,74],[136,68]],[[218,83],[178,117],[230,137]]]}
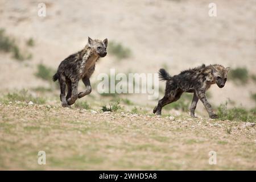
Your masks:
{"label": "low pale-green shrub on the ridge at the far left", "polygon": [[46,100],[42,97],[33,97],[28,93],[27,90],[23,89],[19,92],[8,93],[4,96],[5,101],[21,101],[21,102],[30,102],[32,101],[34,104],[45,104]]}

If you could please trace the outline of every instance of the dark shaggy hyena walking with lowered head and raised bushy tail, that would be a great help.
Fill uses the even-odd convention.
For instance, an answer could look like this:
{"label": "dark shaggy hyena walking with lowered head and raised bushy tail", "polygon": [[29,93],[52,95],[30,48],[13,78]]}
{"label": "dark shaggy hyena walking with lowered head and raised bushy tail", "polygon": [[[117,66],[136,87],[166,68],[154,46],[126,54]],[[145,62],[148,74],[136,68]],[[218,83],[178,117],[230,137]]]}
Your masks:
{"label": "dark shaggy hyena walking with lowered head and raised bushy tail", "polygon": [[210,85],[217,84],[219,88],[223,88],[226,82],[229,68],[222,65],[214,64],[201,65],[200,67],[188,69],[179,75],[171,77],[164,69],[159,70],[160,80],[166,80],[166,90],[164,97],[159,100],[158,105],[154,108],[153,113],[161,114],[162,107],[179,100],[183,92],[194,93],[192,104],[190,107],[191,117],[195,117],[195,109],[197,101],[200,99],[205,109],[207,109],[210,118],[217,118],[217,114],[213,113],[212,106],[205,97],[205,92]]}

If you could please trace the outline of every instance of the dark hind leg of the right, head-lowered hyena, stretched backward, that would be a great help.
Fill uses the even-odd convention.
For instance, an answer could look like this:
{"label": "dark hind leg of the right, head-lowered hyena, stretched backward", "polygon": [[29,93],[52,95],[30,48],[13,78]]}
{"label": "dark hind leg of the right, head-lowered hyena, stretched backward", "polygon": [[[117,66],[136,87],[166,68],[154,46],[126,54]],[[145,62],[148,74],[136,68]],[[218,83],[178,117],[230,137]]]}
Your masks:
{"label": "dark hind leg of the right, head-lowered hyena, stretched backward", "polygon": [[158,105],[155,106],[153,113],[161,115],[163,106],[179,100],[182,93],[183,92],[181,90],[177,90],[177,92],[171,92],[170,94],[166,94],[161,100],[158,101]]}

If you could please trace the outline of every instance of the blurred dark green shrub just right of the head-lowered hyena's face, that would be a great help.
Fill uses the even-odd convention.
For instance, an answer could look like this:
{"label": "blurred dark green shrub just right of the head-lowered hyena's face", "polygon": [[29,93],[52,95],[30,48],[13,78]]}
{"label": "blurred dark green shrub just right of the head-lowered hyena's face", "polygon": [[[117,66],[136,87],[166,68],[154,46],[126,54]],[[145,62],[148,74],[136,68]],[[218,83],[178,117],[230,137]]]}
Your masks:
{"label": "blurred dark green shrub just right of the head-lowered hyena's face", "polygon": [[247,69],[240,67],[231,69],[228,77],[234,81],[239,81],[241,84],[245,84],[249,78]]}

